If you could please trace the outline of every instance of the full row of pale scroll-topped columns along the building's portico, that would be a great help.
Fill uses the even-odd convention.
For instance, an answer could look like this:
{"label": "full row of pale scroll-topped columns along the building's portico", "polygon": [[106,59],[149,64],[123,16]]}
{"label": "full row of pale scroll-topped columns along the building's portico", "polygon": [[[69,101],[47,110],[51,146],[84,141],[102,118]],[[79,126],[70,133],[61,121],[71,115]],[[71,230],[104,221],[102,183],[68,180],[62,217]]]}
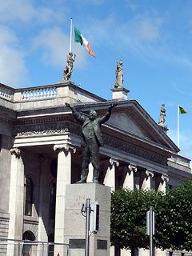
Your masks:
{"label": "full row of pale scroll-topped columns along the building's portico", "polygon": [[[65,211],[65,196],[66,196],[66,184],[71,182],[71,154],[75,153],[75,147],[66,144],[54,145],[54,151],[58,153],[58,171],[57,171],[57,190],[56,190],[56,210],[55,210],[55,227],[54,227],[54,242],[64,242],[64,211]],[[9,226],[9,238],[22,238],[22,225],[23,225],[23,194],[24,194],[24,164],[22,162],[21,151],[18,149],[11,150],[11,170],[10,170],[10,226]],[[41,165],[43,168],[48,168],[45,159]],[[103,171],[103,184],[110,186],[111,190],[116,190],[115,187],[115,173],[116,170],[122,171],[122,186],[123,188],[129,188],[134,190],[134,176],[139,177],[139,188],[146,189],[151,187],[152,178],[155,179],[155,189],[158,191],[166,190],[166,182],[169,180],[166,174],[158,174],[155,170],[144,170],[141,168],[138,170],[138,166],[134,163],[127,163],[125,166],[119,166],[117,158],[111,157],[110,160],[102,161]],[[93,166],[89,166],[89,175],[87,182],[92,182]],[[43,177],[40,177],[40,182],[43,182]],[[39,202],[40,215],[49,202],[42,202],[43,192],[40,190]],[[44,213],[45,214],[45,213]],[[48,219],[48,218],[47,218]],[[41,216],[38,226],[38,239],[46,239],[45,223],[42,223]],[[161,250],[155,250],[155,256],[166,255]],[[129,251],[121,250],[121,255],[130,255]],[[138,250],[138,255],[148,256],[148,250]],[[114,256],[114,248],[111,247],[110,256]]]}

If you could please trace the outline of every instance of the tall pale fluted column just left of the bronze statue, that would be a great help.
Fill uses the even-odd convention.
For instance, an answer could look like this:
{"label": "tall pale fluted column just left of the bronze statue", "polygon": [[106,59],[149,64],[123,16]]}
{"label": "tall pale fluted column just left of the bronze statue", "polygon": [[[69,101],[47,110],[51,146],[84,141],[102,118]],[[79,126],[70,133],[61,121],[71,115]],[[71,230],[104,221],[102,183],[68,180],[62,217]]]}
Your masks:
{"label": "tall pale fluted column just left of the bronze statue", "polygon": [[58,174],[55,206],[54,242],[64,242],[64,214],[66,202],[66,184],[71,182],[71,150],[74,146],[69,144],[54,145],[58,150]]}

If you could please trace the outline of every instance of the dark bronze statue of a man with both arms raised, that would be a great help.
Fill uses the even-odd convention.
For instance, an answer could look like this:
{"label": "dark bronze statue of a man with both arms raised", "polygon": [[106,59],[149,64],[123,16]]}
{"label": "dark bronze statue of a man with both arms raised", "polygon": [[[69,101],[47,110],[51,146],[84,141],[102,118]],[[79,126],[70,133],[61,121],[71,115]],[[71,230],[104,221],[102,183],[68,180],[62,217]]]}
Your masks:
{"label": "dark bronze statue of a man with both arms raised", "polygon": [[97,112],[95,110],[90,110],[90,117],[85,118],[74,108],[73,105],[66,103],[66,106],[72,110],[74,118],[76,118],[78,122],[82,123],[82,174],[81,180],[77,183],[86,182],[86,178],[89,172],[88,166],[90,163],[90,158],[94,166],[93,182],[98,183],[100,174],[99,147],[104,146],[101,125],[102,123],[109,120],[111,109],[117,105],[117,103],[111,104],[106,111],[106,114],[102,118],[97,118]]}

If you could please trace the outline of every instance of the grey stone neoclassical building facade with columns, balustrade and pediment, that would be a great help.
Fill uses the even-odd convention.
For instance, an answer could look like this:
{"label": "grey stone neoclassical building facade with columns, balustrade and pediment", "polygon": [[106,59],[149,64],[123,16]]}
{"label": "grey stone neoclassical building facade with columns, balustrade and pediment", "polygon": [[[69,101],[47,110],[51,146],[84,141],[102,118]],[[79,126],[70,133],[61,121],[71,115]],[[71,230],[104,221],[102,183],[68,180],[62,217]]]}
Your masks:
{"label": "grey stone neoclassical building facade with columns, balustrade and pediment", "polygon": [[[112,89],[106,100],[70,81],[26,89],[0,84],[0,238],[63,242],[66,184],[77,182],[82,168],[82,126],[65,102],[85,116],[102,116],[118,102],[102,125],[100,148],[100,182],[111,190],[166,190],[191,177],[190,160],[128,92]],[[92,175],[90,162],[87,182]]]}

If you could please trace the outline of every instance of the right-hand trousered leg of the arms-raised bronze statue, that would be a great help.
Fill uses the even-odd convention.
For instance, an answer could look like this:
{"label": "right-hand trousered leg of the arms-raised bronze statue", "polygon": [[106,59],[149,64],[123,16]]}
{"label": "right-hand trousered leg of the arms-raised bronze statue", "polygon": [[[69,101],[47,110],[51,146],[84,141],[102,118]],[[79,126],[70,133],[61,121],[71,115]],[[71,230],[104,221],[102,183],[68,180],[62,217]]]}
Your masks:
{"label": "right-hand trousered leg of the arms-raised bronze statue", "polygon": [[91,155],[92,165],[94,166],[93,182],[98,183],[99,176],[100,176],[100,162],[99,162],[99,147],[96,140],[92,143],[90,155]]}

